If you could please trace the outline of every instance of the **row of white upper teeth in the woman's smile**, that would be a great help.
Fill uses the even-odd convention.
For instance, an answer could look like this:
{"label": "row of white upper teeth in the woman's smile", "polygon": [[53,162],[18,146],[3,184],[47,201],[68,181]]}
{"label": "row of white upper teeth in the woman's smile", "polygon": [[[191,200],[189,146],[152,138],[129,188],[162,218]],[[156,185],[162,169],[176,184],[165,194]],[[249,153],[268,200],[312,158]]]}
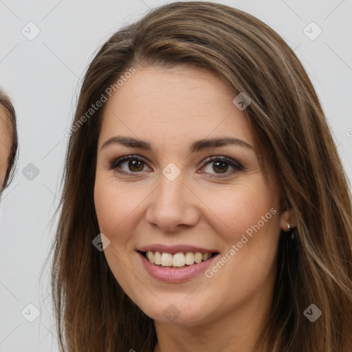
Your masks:
{"label": "row of white upper teeth in the woman's smile", "polygon": [[201,261],[206,261],[212,256],[211,253],[201,252],[187,252],[170,254],[166,252],[146,252],[146,258],[155,265],[162,265],[163,267],[184,267],[185,265],[192,265],[194,263],[201,263]]}

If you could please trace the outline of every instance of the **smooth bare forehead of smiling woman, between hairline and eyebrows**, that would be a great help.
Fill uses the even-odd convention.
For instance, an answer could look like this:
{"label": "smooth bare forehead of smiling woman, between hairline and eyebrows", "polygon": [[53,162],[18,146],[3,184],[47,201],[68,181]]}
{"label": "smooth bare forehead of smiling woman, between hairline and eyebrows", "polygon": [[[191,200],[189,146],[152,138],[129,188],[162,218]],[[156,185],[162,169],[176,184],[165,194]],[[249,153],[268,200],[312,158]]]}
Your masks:
{"label": "smooth bare forehead of smiling woman, between hairline and eyebrows", "polygon": [[235,96],[205,69],[137,69],[106,103],[100,145],[115,133],[147,138],[161,148],[224,135],[254,144],[245,113],[232,102]]}

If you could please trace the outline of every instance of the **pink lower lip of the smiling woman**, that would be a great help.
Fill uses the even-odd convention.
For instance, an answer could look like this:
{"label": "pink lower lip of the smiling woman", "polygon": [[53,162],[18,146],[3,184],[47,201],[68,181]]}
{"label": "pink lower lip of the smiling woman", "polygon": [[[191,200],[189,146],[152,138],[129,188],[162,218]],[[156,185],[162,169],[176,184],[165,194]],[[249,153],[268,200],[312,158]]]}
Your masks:
{"label": "pink lower lip of the smiling woman", "polygon": [[172,269],[168,267],[159,267],[158,265],[148,261],[148,259],[146,259],[142,253],[137,253],[140,254],[142,263],[149,275],[153,276],[153,278],[157,278],[160,281],[166,281],[168,283],[182,283],[189,280],[190,278],[194,278],[201,272],[205,272],[212,261],[214,261],[214,259],[218,256],[217,254],[206,261],[202,261],[201,263],[194,263],[188,267],[182,267],[181,269]]}

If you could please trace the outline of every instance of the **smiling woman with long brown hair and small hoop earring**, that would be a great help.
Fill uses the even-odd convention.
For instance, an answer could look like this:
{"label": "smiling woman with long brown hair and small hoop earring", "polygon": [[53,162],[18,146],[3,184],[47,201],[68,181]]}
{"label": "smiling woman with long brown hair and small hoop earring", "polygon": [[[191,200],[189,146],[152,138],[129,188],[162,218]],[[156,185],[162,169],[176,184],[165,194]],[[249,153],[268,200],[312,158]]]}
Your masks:
{"label": "smiling woman with long brown hair and small hoop earring", "polygon": [[62,349],[351,351],[351,192],[267,25],[203,1],[149,12],[96,54],[69,135]]}

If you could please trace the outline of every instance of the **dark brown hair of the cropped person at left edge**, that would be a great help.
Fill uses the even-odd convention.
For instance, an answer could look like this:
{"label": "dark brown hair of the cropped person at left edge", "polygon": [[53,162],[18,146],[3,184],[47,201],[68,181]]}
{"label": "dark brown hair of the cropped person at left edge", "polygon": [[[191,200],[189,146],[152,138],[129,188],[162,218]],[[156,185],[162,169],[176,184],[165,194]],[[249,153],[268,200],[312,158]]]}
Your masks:
{"label": "dark brown hair of the cropped person at left edge", "polygon": [[19,148],[19,139],[17,135],[17,122],[16,122],[16,111],[10,97],[0,89],[0,107],[3,107],[6,115],[5,124],[8,128],[8,135],[10,136],[11,146],[8,155],[8,168],[6,169],[5,179],[0,193],[10,184],[14,177],[14,169],[16,166],[17,151]]}

